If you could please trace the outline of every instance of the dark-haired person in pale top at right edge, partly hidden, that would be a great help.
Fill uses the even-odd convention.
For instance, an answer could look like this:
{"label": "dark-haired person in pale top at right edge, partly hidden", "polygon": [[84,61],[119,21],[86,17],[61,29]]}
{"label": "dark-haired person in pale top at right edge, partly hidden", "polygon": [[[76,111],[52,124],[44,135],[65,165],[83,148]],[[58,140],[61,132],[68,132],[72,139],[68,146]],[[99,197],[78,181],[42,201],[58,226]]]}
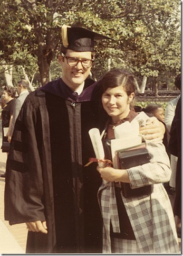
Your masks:
{"label": "dark-haired person in pale top at right edge, partly hidden", "polygon": [[[175,78],[175,86],[178,88],[178,90],[181,91],[181,74],[178,74]],[[177,102],[180,98],[180,94],[175,98],[172,99],[165,109],[165,124],[166,124],[166,134],[167,134],[167,143],[169,143],[170,140],[170,130],[171,130],[171,123],[175,116],[175,110],[177,106]],[[176,187],[176,169],[177,169],[177,157],[173,154],[170,154],[170,166],[172,170],[169,186],[171,188]]]}

